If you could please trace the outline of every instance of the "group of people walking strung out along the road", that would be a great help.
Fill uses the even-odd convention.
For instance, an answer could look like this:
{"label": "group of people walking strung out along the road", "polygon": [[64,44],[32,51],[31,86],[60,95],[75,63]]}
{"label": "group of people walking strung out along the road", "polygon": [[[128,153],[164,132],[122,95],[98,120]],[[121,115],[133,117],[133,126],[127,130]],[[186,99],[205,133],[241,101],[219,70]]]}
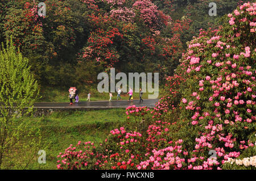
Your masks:
{"label": "group of people walking strung out along the road", "polygon": [[[121,98],[121,92],[122,90],[118,88],[118,91],[117,91],[117,100]],[[130,88],[129,91],[127,92],[127,94],[129,94],[129,100],[128,101],[133,101],[133,90]],[[90,92],[88,93],[87,95],[87,99],[86,101],[90,101]],[[142,95],[143,95],[143,92],[142,92],[142,89],[139,89],[139,102],[142,102],[143,99],[142,99]],[[109,92],[109,101],[112,100],[112,92]],[[69,89],[69,100],[70,100],[70,104],[72,105],[73,104],[73,99],[75,99],[75,102],[78,103],[79,102],[79,91],[76,89],[75,91],[73,89]]]}

